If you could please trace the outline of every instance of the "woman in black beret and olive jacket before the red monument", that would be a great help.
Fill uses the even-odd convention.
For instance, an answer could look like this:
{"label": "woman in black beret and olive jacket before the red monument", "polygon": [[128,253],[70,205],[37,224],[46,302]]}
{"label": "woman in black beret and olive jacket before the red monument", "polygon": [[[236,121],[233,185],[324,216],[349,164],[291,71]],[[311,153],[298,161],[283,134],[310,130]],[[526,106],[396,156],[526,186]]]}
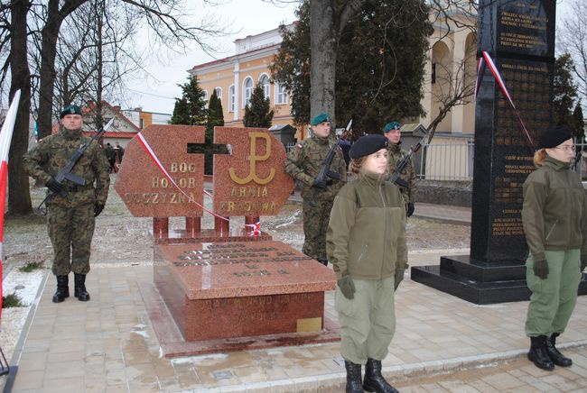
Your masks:
{"label": "woman in black beret and olive jacket before the red monument", "polygon": [[397,391],[381,375],[381,361],[396,332],[395,291],[407,269],[407,247],[404,199],[386,181],[387,143],[385,136],[370,134],[350,148],[350,171],[357,178],[334,199],[326,234],[347,392]]}

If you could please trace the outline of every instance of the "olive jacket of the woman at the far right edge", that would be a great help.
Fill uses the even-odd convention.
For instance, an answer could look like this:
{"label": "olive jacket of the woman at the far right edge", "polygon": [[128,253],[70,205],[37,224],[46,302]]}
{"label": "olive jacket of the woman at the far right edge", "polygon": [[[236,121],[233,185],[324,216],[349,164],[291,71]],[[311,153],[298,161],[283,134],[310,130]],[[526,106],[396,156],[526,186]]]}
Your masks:
{"label": "olive jacket of the woman at the far right edge", "polygon": [[534,260],[545,260],[545,250],[587,255],[587,197],[568,163],[547,156],[526,178],[522,223]]}

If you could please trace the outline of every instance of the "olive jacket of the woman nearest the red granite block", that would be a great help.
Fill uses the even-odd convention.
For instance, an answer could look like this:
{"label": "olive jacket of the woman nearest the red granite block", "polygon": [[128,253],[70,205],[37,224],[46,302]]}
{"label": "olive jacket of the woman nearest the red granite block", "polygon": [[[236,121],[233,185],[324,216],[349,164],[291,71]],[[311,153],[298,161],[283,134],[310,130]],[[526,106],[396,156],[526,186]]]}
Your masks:
{"label": "olive jacket of the woman nearest the red granite block", "polygon": [[407,269],[404,200],[386,177],[359,174],[334,199],[326,252],[337,279],[386,279]]}

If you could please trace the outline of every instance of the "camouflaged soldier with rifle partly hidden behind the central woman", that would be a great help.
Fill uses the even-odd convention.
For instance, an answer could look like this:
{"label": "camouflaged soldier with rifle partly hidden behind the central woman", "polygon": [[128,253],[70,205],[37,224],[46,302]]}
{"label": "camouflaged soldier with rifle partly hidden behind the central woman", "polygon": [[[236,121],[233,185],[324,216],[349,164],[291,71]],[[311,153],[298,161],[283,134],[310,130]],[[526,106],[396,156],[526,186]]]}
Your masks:
{"label": "camouflaged soldier with rifle partly hidden behind the central woman", "polygon": [[[383,128],[383,134],[387,136],[387,140],[389,141],[389,145],[387,146],[387,152],[389,154],[389,173],[394,173],[396,165],[407,155],[407,151],[401,148],[402,142],[400,139],[402,137],[402,132],[399,128],[399,123],[397,122],[387,123]],[[416,185],[413,160],[410,160],[407,163],[399,178],[404,180],[405,183],[410,186],[409,188],[399,187],[399,190],[402,192],[402,197],[404,197],[405,200],[405,211],[409,217],[414,214],[415,209]]]}

